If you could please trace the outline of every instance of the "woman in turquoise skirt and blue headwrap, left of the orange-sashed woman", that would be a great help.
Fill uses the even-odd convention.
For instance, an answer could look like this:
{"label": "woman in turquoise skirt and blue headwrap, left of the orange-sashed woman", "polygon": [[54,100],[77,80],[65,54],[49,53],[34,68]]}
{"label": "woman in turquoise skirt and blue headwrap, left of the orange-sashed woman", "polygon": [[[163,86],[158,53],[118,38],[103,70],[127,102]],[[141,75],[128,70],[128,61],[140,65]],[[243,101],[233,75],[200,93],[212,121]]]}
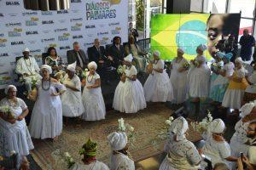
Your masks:
{"label": "woman in turquoise skirt and blue headwrap, left of the orange-sashed woman", "polygon": [[[218,55],[221,56],[222,54]],[[212,88],[210,93],[210,97],[215,102],[221,103],[223,101],[224,94],[229,85],[229,77],[231,77],[234,72],[235,65],[230,62],[232,56],[233,54],[231,53],[224,54],[224,66],[220,70],[216,71],[218,77],[214,80],[214,82],[212,82]]]}

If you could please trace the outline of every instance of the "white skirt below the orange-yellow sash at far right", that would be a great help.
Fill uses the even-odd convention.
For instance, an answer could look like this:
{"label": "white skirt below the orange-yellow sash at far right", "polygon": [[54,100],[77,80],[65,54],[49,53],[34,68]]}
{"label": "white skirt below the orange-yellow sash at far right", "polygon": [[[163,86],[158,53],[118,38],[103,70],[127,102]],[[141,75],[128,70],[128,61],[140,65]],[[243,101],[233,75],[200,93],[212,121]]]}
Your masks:
{"label": "white skirt below the orange-yellow sash at far right", "polygon": [[224,94],[222,106],[230,109],[240,109],[241,100],[243,98],[244,90],[242,89],[227,89]]}

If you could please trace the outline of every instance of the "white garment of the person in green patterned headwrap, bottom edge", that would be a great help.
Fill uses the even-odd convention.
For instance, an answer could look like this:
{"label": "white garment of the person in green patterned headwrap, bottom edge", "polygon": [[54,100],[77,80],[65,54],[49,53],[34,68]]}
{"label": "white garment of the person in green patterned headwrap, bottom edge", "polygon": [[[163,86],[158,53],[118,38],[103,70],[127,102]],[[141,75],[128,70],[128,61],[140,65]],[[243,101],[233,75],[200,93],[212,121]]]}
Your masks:
{"label": "white garment of the person in green patterned headwrap, bottom edge", "polygon": [[69,170],[109,170],[109,168],[102,161],[95,161],[89,165],[75,163]]}

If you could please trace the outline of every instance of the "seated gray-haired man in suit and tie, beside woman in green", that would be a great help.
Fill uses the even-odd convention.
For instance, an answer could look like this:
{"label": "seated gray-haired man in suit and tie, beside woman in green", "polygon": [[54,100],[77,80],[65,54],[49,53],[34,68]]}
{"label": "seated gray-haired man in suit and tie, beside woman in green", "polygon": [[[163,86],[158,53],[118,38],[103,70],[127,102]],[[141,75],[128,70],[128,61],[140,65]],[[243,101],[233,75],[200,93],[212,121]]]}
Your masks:
{"label": "seated gray-haired man in suit and tie, beside woman in green", "polygon": [[67,51],[67,63],[68,65],[77,61],[77,66],[81,69],[87,67],[89,59],[84,53],[84,50],[80,49],[79,42],[73,42],[73,49]]}

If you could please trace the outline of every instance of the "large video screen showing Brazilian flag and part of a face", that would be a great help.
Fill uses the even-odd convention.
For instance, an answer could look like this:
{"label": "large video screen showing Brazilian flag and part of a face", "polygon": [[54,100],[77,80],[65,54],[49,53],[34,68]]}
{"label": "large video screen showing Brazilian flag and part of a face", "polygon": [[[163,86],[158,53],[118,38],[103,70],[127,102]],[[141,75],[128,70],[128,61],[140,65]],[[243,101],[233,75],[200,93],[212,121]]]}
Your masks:
{"label": "large video screen showing Brazilian flag and part of a face", "polygon": [[237,42],[241,14],[155,14],[151,18],[151,51],[160,50],[167,61],[177,56],[177,48],[183,48],[186,59],[194,59],[196,47],[208,46],[205,53],[211,59],[212,51],[224,37],[234,35]]}

